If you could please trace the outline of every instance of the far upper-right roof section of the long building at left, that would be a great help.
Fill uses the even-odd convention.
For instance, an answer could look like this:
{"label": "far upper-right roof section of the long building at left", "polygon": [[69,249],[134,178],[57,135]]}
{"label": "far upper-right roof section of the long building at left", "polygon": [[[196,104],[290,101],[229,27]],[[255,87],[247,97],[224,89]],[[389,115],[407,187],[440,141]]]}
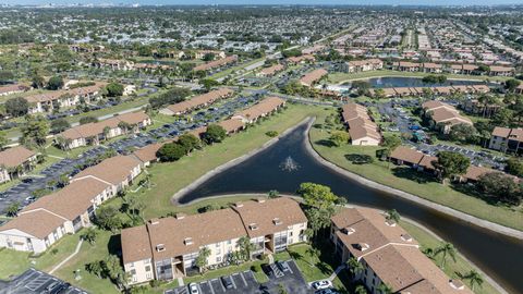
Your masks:
{"label": "far upper-right roof section of the long building at left", "polygon": [[100,163],[87,168],[76,174],[72,181],[93,176],[118,185],[131,174],[131,170],[139,166],[141,161],[133,156],[115,156],[108,158]]}

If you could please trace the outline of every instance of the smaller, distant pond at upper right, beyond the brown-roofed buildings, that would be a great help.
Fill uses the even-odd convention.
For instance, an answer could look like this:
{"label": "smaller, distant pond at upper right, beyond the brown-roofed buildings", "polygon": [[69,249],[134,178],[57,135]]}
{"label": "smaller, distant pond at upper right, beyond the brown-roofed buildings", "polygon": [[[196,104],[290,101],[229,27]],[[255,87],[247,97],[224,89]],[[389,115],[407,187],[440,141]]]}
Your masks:
{"label": "smaller, distant pond at upper right, beyond the brown-roofed buildings", "polygon": [[[462,85],[489,85],[496,86],[494,83],[485,83],[483,81],[467,81],[467,79],[447,79],[442,84],[427,84],[423,83],[421,77],[406,76],[385,76],[361,79],[368,82],[374,88],[392,88],[392,87],[435,87],[435,86],[462,86]],[[351,86],[351,82],[344,83],[343,86]]]}

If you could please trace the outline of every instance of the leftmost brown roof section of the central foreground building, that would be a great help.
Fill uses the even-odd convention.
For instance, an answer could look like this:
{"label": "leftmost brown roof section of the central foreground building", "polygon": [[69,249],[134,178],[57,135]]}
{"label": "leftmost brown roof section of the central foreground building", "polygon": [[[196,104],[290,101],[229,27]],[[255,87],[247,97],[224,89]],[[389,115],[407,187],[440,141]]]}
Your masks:
{"label": "leftmost brown roof section of the central foreground building", "polygon": [[123,229],[120,235],[123,264],[149,259],[153,257],[149,234],[146,225]]}

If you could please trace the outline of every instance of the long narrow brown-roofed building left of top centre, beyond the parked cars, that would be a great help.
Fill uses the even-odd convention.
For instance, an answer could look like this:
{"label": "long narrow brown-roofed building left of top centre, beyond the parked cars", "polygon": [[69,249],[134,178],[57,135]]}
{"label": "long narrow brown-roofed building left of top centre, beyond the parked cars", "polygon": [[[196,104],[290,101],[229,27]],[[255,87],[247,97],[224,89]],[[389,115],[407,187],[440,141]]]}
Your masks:
{"label": "long narrow brown-roofed building left of top centre, beyond the parked cars", "polygon": [[232,89],[220,88],[203,95],[198,95],[175,105],[170,105],[161,109],[159,112],[166,115],[180,115],[198,108],[207,107],[219,99],[231,97],[233,94],[234,91]]}

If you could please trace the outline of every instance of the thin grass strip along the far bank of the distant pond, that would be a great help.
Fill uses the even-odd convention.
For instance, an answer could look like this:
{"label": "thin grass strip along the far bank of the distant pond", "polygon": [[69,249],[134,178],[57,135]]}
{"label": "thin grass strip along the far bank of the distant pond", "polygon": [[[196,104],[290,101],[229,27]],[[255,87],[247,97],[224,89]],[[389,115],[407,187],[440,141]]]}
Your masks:
{"label": "thin grass strip along the far bank of the distant pond", "polygon": [[[412,77],[424,77],[428,73],[409,73],[409,72],[398,72],[390,70],[382,71],[369,71],[361,73],[333,73],[329,74],[328,81],[335,84],[342,84],[344,82],[355,79],[355,78],[370,78],[370,77],[380,77],[380,76],[412,76]],[[503,82],[510,77],[503,76],[484,76],[484,75],[464,75],[464,74],[445,74],[448,78],[455,79],[478,79],[478,81],[491,81],[491,82]]]}

